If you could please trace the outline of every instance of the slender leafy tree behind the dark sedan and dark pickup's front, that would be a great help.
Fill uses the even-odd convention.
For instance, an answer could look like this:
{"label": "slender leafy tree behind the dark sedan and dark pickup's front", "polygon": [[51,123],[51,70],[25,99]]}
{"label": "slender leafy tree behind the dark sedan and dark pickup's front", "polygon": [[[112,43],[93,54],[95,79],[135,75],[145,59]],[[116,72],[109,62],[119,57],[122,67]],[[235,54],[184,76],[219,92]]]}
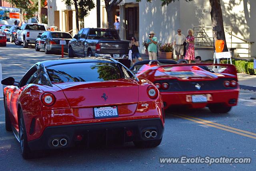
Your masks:
{"label": "slender leafy tree behind the dark sedan and dark pickup's front", "polygon": [[[78,18],[84,18],[88,16],[90,10],[92,10],[95,7],[93,0],[63,0],[66,5],[75,6],[76,10],[76,28],[79,30],[79,22]],[[78,11],[79,8],[79,11]]]}

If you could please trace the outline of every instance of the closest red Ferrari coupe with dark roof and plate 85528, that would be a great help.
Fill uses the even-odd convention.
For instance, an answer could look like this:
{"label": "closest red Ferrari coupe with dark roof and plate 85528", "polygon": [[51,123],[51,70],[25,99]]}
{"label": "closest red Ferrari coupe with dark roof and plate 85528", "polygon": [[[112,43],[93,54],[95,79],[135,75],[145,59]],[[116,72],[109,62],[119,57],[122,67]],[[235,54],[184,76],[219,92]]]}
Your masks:
{"label": "closest red Ferrari coupe with dark roof and plate 85528", "polygon": [[3,79],[6,130],[24,158],[36,151],[133,142],[156,147],[164,110],[156,86],[114,59],[38,62],[17,82]]}

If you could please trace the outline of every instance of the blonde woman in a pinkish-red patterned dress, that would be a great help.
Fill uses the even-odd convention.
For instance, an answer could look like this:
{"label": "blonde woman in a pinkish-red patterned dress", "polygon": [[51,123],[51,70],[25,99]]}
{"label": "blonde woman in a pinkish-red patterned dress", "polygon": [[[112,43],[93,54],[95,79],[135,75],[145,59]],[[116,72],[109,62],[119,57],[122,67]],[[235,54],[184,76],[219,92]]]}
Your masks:
{"label": "blonde woman in a pinkish-red patterned dress", "polygon": [[195,46],[194,46],[193,30],[188,29],[188,36],[186,37],[186,43],[188,43],[188,49],[186,51],[185,58],[191,63],[191,60],[195,60]]}

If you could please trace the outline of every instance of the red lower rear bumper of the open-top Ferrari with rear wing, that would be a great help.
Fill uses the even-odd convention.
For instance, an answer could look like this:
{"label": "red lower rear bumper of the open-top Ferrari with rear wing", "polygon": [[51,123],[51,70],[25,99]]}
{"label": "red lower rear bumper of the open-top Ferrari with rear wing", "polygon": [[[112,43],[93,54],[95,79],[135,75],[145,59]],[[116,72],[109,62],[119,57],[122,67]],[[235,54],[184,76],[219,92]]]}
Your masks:
{"label": "red lower rear bumper of the open-top Ferrari with rear wing", "polygon": [[[188,106],[189,108],[204,108],[214,104],[222,104],[223,106],[236,106],[239,89],[230,90],[208,90],[208,91],[187,91],[187,92],[160,92],[164,102],[164,108],[170,106]],[[187,100],[187,95],[210,94],[210,100],[207,102],[191,102]],[[232,100],[232,103],[230,100]]]}

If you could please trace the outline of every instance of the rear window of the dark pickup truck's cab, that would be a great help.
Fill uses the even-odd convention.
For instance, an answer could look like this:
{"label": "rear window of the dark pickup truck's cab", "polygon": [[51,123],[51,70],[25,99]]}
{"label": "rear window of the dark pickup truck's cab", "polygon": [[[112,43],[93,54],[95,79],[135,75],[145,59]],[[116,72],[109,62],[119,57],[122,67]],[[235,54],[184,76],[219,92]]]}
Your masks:
{"label": "rear window of the dark pickup truck's cab", "polygon": [[119,39],[116,30],[90,30],[89,39]]}

